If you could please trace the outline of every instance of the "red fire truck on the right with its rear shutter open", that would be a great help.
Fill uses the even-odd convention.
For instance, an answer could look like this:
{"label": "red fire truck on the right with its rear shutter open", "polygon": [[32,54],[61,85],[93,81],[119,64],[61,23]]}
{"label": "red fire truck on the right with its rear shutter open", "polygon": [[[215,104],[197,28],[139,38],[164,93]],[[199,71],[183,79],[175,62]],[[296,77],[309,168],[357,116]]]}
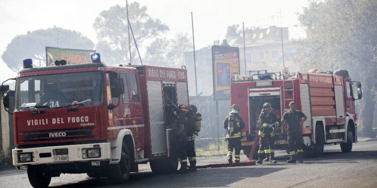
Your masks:
{"label": "red fire truck on the right with its rear shutter open", "polygon": [[[361,83],[352,81],[346,70],[333,73],[277,73],[235,76],[231,83],[231,104],[240,106],[240,115],[246,127],[242,130],[244,153],[250,153],[256,136],[257,120],[265,102],[281,119],[295,101],[297,109],[308,116],[301,125],[304,152],[323,154],[325,144],[340,143],[343,152],[357,142],[357,115],[354,101],[361,99]],[[356,86],[356,87],[355,87]],[[357,96],[354,90],[357,88]],[[288,149],[287,130],[276,128],[275,148]],[[257,144],[257,143],[256,143]]]}

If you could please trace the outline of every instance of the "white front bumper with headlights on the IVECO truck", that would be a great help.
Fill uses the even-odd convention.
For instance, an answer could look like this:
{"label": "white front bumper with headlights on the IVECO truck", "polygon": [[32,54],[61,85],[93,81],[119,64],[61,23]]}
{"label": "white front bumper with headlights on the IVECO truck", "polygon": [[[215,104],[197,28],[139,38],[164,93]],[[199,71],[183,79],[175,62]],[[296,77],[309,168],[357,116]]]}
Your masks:
{"label": "white front bumper with headlights on the IVECO truck", "polygon": [[110,161],[110,143],[61,145],[13,149],[13,165],[57,164],[85,161]]}

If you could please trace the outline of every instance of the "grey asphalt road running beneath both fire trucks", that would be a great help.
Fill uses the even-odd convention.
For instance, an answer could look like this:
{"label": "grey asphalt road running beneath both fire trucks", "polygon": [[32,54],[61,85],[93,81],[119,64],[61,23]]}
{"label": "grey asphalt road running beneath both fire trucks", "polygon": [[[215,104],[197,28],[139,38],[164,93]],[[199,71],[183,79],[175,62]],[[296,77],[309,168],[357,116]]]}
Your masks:
{"label": "grey asphalt road running beneath both fire trucks", "polygon": [[[339,145],[325,147],[318,158],[288,164],[285,151],[277,153],[277,164],[207,168],[187,174],[154,175],[149,165],[133,173],[126,184],[111,184],[107,178],[86,174],[53,177],[52,187],[377,187],[377,141],[358,142],[352,152],[342,153]],[[246,161],[241,156],[241,161]],[[225,155],[198,157],[198,165],[226,162]],[[2,169],[3,168],[3,169]],[[0,187],[31,187],[26,170],[0,166]]]}

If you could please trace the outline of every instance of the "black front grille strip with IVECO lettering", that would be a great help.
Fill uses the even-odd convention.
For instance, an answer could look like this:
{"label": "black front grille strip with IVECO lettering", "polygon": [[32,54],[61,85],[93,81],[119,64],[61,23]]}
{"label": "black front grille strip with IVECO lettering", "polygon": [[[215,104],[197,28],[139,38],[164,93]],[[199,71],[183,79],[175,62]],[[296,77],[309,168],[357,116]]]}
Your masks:
{"label": "black front grille strip with IVECO lettering", "polygon": [[93,127],[24,131],[24,142],[93,138]]}

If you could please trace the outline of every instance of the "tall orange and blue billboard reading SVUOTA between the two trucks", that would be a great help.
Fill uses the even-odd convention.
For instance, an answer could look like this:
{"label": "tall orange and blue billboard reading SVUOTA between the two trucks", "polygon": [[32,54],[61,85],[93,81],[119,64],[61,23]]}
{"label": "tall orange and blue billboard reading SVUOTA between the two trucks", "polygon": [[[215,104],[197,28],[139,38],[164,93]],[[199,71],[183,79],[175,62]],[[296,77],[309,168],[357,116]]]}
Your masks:
{"label": "tall orange and blue billboard reading SVUOTA between the two trucks", "polygon": [[240,73],[238,47],[212,46],[213,88],[215,100],[230,99],[232,76]]}

